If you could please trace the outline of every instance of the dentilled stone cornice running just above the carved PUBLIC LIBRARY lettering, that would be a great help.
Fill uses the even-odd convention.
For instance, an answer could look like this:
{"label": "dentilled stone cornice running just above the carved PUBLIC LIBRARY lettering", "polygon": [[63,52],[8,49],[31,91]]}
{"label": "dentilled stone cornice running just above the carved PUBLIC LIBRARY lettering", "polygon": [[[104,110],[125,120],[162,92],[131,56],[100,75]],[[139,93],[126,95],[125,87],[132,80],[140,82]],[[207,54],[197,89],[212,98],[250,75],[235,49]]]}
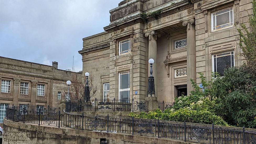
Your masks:
{"label": "dentilled stone cornice running just above the carved PUBLIC LIBRARY lettering", "polygon": [[[159,16],[158,16],[158,19],[165,17],[167,15],[177,13],[182,10],[191,8],[193,6],[194,6],[193,3],[188,2],[188,1],[182,1],[182,2],[176,3],[176,4],[172,5],[172,7],[166,7],[166,8],[161,9],[162,11],[161,11],[161,14],[159,14]],[[155,11],[157,11],[157,10],[158,9],[156,9]],[[152,11],[152,12],[154,12],[154,11]],[[120,20],[120,22],[116,22],[116,23],[110,24],[108,26],[105,26],[104,30],[110,33],[110,32],[125,28],[127,26],[130,26],[130,25],[133,25],[136,23],[145,23],[141,17],[141,14],[142,14],[142,12],[138,13],[137,15],[134,15],[134,17],[127,18],[126,20]],[[148,19],[148,22],[155,20],[154,17],[148,17],[147,19]]]}

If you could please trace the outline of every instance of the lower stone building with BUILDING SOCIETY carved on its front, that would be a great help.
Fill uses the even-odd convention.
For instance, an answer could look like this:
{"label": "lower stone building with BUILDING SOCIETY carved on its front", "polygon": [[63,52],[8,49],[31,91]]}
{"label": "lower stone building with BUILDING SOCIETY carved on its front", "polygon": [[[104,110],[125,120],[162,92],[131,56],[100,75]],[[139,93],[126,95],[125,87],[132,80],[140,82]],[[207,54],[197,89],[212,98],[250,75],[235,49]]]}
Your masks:
{"label": "lower stone building with BUILDING SOCIETY carved on its front", "polygon": [[58,62],[48,66],[0,57],[0,123],[7,104],[59,106],[72,73],[58,69]]}

